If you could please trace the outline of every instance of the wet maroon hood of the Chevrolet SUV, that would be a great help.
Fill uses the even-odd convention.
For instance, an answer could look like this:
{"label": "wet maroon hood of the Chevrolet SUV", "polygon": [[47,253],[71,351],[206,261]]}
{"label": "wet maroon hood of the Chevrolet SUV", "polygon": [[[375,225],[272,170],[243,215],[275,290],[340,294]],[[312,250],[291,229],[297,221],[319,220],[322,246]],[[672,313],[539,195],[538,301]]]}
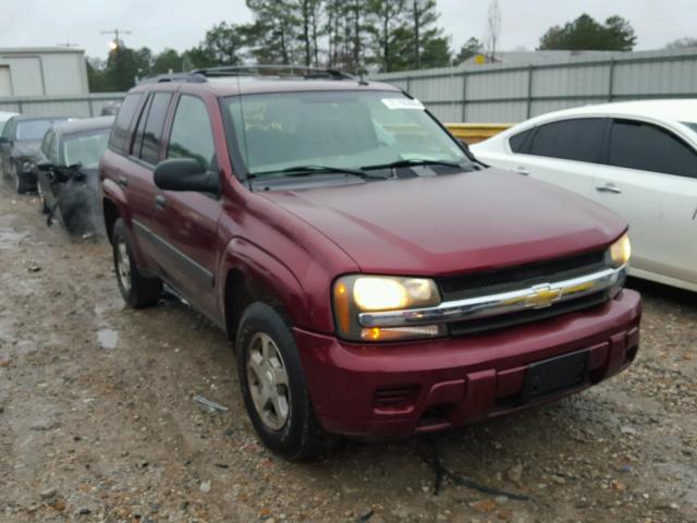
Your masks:
{"label": "wet maroon hood of the Chevrolet SUV", "polygon": [[626,230],[589,199],[498,169],[258,194],[366,273],[490,270],[604,248]]}

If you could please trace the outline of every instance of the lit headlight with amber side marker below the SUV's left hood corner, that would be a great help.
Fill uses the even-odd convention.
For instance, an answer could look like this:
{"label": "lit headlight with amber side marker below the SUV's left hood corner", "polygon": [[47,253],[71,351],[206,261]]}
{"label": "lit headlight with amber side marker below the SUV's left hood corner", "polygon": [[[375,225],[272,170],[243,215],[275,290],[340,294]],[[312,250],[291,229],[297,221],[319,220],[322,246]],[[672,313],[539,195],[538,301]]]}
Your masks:
{"label": "lit headlight with amber side marker below the SUV's left hood corner", "polygon": [[440,304],[433,280],[352,275],[339,278],[332,301],[339,335],[354,341],[396,341],[435,338],[443,333],[440,326],[366,328],[358,324],[360,313],[401,311]]}

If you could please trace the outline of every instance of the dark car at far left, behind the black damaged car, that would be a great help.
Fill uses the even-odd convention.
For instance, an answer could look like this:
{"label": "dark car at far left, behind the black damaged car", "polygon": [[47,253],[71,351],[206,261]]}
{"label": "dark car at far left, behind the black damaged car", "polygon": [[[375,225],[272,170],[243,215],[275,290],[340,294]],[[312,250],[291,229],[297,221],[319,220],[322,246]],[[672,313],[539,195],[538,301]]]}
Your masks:
{"label": "dark car at far left, behind the black damaged car", "polygon": [[4,125],[0,136],[0,171],[14,183],[19,194],[36,188],[36,157],[46,132],[51,125],[69,120],[69,117],[16,115]]}

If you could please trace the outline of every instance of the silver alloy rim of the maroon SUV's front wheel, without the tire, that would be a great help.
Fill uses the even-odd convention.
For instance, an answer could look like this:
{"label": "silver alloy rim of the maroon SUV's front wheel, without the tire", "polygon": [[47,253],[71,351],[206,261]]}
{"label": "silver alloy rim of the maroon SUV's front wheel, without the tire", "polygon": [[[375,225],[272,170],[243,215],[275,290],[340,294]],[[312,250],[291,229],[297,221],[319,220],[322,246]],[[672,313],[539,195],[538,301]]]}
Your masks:
{"label": "silver alloy rim of the maroon SUV's front wheel, without the tire", "polygon": [[291,414],[291,390],[283,356],[270,336],[257,332],[247,352],[247,379],[261,422],[282,429]]}

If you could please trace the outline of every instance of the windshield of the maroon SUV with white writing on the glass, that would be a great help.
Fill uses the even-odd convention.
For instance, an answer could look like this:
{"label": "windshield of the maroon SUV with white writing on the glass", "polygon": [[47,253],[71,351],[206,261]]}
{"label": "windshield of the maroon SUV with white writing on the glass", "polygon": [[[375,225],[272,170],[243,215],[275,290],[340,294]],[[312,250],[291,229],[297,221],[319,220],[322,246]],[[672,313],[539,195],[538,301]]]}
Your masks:
{"label": "windshield of the maroon SUV with white writing on the glass", "polygon": [[467,160],[420,102],[394,92],[301,92],[223,100],[249,174]]}

